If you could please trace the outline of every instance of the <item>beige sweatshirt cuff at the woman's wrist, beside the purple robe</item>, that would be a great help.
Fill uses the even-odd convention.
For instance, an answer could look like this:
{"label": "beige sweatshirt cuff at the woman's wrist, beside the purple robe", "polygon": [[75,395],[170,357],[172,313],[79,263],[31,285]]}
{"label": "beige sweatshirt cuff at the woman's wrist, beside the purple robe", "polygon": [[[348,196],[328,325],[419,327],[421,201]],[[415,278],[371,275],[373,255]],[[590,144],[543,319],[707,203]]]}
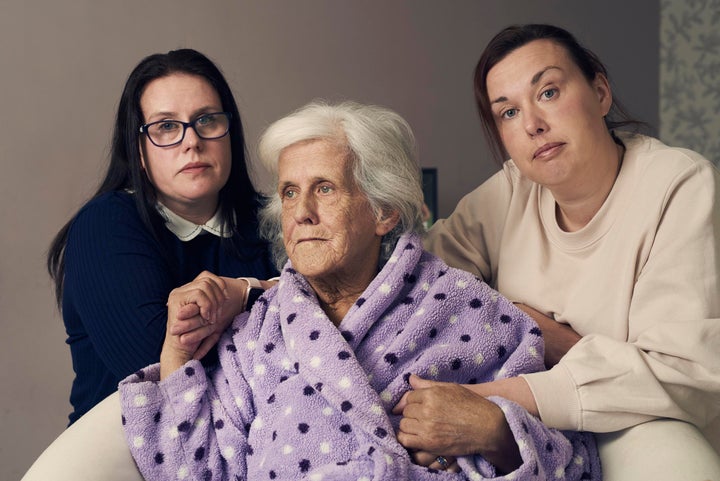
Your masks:
{"label": "beige sweatshirt cuff at the woman's wrist, beside the purple robe", "polygon": [[556,429],[583,431],[578,386],[562,363],[521,377],[530,386],[542,422]]}

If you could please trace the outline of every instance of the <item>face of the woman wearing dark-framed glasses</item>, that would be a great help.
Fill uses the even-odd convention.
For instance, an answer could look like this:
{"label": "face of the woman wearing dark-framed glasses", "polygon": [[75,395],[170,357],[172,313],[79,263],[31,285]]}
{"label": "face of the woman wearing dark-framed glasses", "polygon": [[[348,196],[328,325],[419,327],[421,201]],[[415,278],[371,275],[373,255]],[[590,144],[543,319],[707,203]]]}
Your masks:
{"label": "face of the woman wearing dark-framed glasses", "polygon": [[[222,112],[215,89],[202,77],[171,74],[150,82],[140,98],[145,123],[190,122]],[[143,168],[157,189],[158,200],[176,214],[203,223],[217,207],[218,192],[230,175],[230,136],[204,140],[192,128],[178,145],[157,147],[140,138]],[[204,219],[203,219],[204,218]]]}

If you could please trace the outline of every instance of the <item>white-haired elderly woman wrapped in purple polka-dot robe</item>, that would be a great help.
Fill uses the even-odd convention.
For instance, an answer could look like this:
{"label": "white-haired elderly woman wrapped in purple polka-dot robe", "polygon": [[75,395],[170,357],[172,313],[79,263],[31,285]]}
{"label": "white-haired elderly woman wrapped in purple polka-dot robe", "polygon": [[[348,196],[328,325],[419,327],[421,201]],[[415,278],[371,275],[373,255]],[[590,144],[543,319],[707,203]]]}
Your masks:
{"label": "white-haired elderly woman wrapped in purple polka-dot robe", "polygon": [[478,399],[485,438],[457,464],[415,464],[397,441],[411,374],[480,383],[543,367],[530,317],[422,249],[402,118],[310,104],[270,126],[260,156],[277,180],[262,222],[279,283],[221,338],[218,366],[193,359],[211,329],[172,318],[160,363],[121,383],[146,479],[601,478],[590,435],[502,398]]}

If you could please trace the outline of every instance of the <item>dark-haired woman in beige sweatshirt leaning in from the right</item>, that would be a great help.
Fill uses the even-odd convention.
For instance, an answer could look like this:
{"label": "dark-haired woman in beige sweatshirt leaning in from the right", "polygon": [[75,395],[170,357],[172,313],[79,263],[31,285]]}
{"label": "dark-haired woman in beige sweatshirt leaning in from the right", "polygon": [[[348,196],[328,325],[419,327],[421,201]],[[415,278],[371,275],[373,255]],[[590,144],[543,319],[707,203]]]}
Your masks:
{"label": "dark-haired woman in beige sweatshirt leaning in from the right", "polygon": [[698,430],[720,447],[717,169],[615,132],[633,122],[605,67],[557,27],[501,31],[475,92],[490,143],[511,160],[426,247],[531,314],[549,370],[462,387],[413,377],[400,441],[420,462],[465,454],[477,396],[501,395],[551,427],[603,433],[605,479],[720,479]]}

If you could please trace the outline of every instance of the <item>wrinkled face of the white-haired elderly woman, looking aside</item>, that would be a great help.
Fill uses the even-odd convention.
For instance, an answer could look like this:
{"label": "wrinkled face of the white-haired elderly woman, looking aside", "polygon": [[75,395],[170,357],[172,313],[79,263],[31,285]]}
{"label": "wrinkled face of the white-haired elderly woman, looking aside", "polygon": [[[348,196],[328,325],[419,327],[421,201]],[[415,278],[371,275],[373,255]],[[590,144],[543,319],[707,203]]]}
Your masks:
{"label": "wrinkled face of the white-haired elderly woman, looking aside", "polygon": [[[311,282],[369,282],[395,222],[376,219],[347,152],[327,141],[293,144],[278,162],[285,250]],[[369,276],[369,277],[368,277]]]}

